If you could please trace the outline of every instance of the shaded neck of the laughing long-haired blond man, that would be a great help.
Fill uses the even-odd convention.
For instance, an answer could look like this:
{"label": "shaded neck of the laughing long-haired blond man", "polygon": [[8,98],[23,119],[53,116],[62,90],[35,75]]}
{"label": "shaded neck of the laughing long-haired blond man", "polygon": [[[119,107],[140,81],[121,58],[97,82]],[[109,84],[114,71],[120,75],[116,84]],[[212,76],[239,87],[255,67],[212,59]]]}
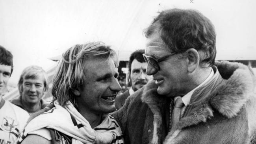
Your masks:
{"label": "shaded neck of the laughing long-haired blond man", "polygon": [[102,120],[102,114],[93,113],[84,107],[79,107],[79,105],[78,111],[89,122],[92,128],[98,126]]}

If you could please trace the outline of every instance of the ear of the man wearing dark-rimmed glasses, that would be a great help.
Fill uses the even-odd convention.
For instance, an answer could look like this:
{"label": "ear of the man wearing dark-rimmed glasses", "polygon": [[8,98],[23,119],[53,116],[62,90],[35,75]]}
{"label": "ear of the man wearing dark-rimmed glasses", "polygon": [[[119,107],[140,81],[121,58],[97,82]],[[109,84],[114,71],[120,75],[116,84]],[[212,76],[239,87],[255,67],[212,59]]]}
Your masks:
{"label": "ear of the man wearing dark-rimmed glasses", "polygon": [[195,48],[189,48],[187,51],[187,70],[194,72],[199,66],[200,57]]}

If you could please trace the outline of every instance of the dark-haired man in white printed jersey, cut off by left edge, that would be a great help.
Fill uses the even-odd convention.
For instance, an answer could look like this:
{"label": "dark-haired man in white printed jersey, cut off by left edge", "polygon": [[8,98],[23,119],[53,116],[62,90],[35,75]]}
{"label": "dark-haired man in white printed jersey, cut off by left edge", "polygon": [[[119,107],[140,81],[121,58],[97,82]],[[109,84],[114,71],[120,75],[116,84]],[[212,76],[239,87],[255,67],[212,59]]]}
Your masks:
{"label": "dark-haired man in white printed jersey, cut off by left edge", "polygon": [[0,144],[13,144],[29,117],[26,111],[2,98],[12,72],[13,55],[0,46]]}

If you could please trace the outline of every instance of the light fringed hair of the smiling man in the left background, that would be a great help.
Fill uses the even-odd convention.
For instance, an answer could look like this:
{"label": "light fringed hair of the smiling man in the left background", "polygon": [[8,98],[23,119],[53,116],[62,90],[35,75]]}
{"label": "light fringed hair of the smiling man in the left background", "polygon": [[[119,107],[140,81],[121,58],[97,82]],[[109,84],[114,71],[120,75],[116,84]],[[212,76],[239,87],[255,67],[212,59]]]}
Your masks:
{"label": "light fringed hair of the smiling man in the left background", "polygon": [[48,83],[48,78],[47,78],[45,70],[43,70],[43,68],[40,66],[32,65],[32,66],[26,67],[20,75],[20,79],[18,82],[18,89],[20,92],[20,96],[23,92],[22,83],[23,83],[24,79],[37,79],[38,76],[41,74],[43,75],[43,78],[44,78],[44,91],[48,90],[49,83]]}

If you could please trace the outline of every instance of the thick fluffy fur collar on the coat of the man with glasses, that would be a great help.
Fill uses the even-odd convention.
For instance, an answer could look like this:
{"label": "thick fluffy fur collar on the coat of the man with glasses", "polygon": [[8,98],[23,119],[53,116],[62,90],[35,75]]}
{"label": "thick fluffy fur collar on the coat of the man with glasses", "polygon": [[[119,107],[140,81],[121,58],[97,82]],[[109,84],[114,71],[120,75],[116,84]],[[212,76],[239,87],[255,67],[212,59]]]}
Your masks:
{"label": "thick fluffy fur collar on the coat of the man with glasses", "polygon": [[[212,108],[227,118],[232,118],[239,113],[240,109],[249,99],[253,82],[252,74],[247,66],[241,63],[230,63],[227,61],[216,62],[215,66],[217,66],[215,74],[219,73],[223,78],[221,83],[211,92],[209,99],[194,107],[191,113],[180,120],[178,131],[186,126],[206,122],[208,118],[213,116]],[[158,143],[157,131],[160,130],[160,124],[162,123],[160,107],[165,105],[166,98],[157,93],[157,85],[154,81],[150,81],[143,90],[141,99],[142,102],[148,104],[154,114],[152,143]],[[167,137],[169,139],[176,137],[178,131],[168,134]]]}

